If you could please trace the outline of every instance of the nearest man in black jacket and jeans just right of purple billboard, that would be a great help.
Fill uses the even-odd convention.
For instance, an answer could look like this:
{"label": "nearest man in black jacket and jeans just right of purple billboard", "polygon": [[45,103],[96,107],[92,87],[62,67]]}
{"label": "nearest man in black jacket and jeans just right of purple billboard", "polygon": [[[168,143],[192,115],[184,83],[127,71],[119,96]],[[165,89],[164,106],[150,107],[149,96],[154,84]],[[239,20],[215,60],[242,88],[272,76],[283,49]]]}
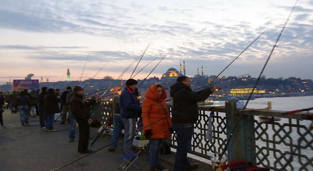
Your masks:
{"label": "nearest man in black jacket and jeans just right of purple billboard", "polygon": [[55,90],[53,88],[49,88],[47,94],[44,97],[44,111],[46,114],[45,131],[57,131],[57,129],[53,128],[53,121],[55,113],[60,112],[60,108],[58,105],[59,102],[61,102],[61,98],[55,94]]}

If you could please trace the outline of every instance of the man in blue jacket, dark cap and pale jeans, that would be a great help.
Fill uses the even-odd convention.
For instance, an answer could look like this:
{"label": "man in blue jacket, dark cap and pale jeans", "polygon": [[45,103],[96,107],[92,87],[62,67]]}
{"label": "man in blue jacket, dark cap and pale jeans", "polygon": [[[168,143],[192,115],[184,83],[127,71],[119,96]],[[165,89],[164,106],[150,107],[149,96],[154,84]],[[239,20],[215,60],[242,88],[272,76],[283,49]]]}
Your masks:
{"label": "man in blue jacket, dark cap and pale jeans", "polygon": [[122,91],[119,99],[119,107],[121,110],[121,118],[125,128],[125,138],[124,138],[124,154],[133,155],[136,154],[133,151],[133,139],[134,130],[136,125],[136,120],[138,117],[138,112],[141,110],[139,101],[135,98],[134,89],[137,88],[138,82],[134,79],[129,79],[126,81],[125,89]]}

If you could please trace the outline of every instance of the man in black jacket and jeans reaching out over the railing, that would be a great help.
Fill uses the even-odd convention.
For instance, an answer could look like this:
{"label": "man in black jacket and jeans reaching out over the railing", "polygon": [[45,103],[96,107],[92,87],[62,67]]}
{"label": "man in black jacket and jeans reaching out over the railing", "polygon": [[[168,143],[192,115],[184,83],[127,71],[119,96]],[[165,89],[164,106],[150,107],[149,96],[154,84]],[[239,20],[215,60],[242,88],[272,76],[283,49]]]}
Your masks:
{"label": "man in black jacket and jeans reaching out over the railing", "polygon": [[198,121],[198,102],[204,101],[221,86],[208,87],[201,91],[192,92],[190,78],[181,76],[171,86],[170,94],[173,97],[172,128],[177,135],[177,151],[173,171],[188,171],[199,167],[191,165],[187,159],[187,152],[191,148],[194,124]]}

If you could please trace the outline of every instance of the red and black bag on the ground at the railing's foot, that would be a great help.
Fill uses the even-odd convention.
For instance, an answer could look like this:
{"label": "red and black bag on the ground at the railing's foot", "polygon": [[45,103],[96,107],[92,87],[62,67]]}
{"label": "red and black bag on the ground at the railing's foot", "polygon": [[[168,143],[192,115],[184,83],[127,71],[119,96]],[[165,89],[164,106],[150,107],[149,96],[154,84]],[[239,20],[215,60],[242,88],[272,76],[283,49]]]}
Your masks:
{"label": "red and black bag on the ground at the railing's foot", "polygon": [[246,160],[229,162],[228,167],[230,171],[269,171],[267,168],[253,166],[252,163]]}

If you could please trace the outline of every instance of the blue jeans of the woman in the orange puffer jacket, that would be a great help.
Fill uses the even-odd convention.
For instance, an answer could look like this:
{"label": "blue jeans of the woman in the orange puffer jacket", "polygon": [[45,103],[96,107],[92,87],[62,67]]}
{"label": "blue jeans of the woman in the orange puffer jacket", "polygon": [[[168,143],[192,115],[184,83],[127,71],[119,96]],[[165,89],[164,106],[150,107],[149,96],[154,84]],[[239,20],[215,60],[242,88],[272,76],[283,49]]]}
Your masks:
{"label": "blue jeans of the woman in the orange puffer jacket", "polygon": [[164,139],[149,139],[149,162],[150,167],[160,164],[161,145]]}

